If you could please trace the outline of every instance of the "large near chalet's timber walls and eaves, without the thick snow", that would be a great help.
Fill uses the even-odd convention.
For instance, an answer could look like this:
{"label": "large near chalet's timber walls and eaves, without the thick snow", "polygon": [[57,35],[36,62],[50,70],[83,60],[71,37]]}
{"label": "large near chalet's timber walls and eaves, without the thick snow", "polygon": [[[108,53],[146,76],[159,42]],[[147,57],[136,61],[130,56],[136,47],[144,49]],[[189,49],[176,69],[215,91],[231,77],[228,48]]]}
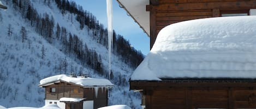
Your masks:
{"label": "large near chalet's timber walls and eaves, without the thick snow", "polygon": [[[117,1],[150,36],[150,48],[159,31],[169,24],[199,18],[256,15],[256,0]],[[256,108],[255,79],[160,79],[130,80],[130,89],[142,94],[142,108]]]}

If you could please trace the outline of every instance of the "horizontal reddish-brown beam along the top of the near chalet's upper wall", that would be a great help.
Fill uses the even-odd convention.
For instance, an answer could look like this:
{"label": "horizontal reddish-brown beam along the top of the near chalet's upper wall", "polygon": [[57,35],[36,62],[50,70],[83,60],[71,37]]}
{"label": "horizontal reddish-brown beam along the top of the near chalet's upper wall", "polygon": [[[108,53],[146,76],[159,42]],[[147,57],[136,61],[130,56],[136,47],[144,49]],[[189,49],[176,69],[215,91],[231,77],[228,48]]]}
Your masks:
{"label": "horizontal reddish-brown beam along the top of the near chalet's upper wall", "polygon": [[208,2],[208,3],[173,3],[162,5],[147,5],[147,11],[162,10],[201,10],[201,9],[253,9],[256,8],[255,0],[236,2]]}

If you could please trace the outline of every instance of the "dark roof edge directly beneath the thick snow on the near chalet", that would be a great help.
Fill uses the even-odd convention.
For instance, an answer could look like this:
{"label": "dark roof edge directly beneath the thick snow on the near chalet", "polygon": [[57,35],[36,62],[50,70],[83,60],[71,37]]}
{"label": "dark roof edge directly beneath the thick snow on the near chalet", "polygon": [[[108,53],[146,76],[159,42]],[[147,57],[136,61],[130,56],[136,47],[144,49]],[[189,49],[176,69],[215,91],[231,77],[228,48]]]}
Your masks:
{"label": "dark roof edge directly beneath the thick snow on the near chalet", "polygon": [[130,89],[145,90],[160,87],[255,87],[256,79],[230,80],[130,80]]}

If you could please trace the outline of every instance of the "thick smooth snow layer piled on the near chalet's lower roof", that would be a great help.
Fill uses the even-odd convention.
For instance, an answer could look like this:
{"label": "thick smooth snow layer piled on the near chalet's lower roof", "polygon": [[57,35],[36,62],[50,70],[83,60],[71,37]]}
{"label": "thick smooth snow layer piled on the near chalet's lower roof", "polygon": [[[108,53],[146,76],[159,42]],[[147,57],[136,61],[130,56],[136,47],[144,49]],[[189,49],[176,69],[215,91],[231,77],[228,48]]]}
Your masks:
{"label": "thick smooth snow layer piled on the near chalet's lower roof", "polygon": [[256,16],[185,21],[163,28],[131,80],[256,78]]}

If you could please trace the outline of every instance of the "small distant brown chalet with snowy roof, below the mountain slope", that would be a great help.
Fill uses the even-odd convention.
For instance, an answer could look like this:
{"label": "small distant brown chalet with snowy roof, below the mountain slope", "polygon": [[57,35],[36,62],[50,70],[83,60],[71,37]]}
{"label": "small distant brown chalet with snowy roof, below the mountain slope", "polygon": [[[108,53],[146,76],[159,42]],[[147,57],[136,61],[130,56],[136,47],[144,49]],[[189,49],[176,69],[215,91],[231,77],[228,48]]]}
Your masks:
{"label": "small distant brown chalet with snowy roof, below the mountain slope", "polygon": [[108,106],[108,89],[114,87],[107,79],[64,74],[42,79],[38,86],[45,88],[45,105],[57,104],[62,109]]}

